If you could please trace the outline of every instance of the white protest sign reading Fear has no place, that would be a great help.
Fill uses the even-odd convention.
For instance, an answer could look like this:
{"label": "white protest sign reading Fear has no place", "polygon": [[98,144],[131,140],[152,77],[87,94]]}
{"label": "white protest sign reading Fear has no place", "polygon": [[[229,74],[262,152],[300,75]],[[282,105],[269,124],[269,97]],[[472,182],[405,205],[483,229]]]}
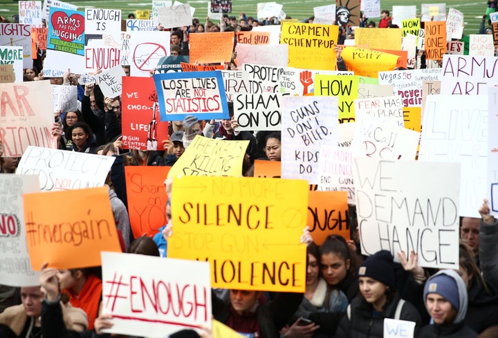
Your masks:
{"label": "white protest sign reading Fear has no place", "polygon": [[355,99],[354,106],[356,121],[370,117],[391,126],[403,127],[403,103],[398,95]]}

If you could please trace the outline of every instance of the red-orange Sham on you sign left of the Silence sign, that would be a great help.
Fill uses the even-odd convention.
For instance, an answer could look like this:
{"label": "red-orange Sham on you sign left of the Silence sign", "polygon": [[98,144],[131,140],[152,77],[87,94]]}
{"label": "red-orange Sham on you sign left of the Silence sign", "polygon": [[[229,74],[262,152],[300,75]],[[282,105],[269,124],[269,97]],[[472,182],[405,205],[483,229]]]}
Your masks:
{"label": "red-orange Sham on you sign left of the Silence sign", "polygon": [[128,215],[133,237],[154,236],[164,226],[167,193],[164,181],[171,167],[124,166]]}

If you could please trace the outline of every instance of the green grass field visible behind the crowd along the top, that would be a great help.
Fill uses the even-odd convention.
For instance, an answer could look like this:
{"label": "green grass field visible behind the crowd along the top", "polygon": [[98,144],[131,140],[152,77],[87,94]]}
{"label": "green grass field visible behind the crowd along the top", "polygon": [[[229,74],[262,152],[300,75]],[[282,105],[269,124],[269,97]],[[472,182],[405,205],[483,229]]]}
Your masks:
{"label": "green grass field visible behind the crowd along the top", "polygon": [[[265,2],[266,0],[233,0],[232,14],[238,17],[240,12],[245,12],[248,16],[256,15],[256,6],[258,2]],[[268,0],[269,1],[269,0]],[[85,0],[66,0],[66,2],[73,3],[78,6],[79,10],[85,7],[99,7],[109,9],[122,10],[123,18],[126,18],[128,13],[134,10],[147,10],[151,8],[151,1],[138,1],[138,0],[101,0],[101,1],[85,1]],[[194,17],[204,19],[208,11],[208,1],[194,0],[194,1],[181,1],[183,3],[190,3],[190,6],[196,8]],[[299,20],[311,17],[313,15],[313,7],[324,6],[333,3],[324,0],[281,0],[278,3],[284,4],[284,12],[293,18]],[[477,34],[479,32],[479,23],[481,22],[482,15],[486,12],[486,1],[477,1],[465,3],[462,0],[440,0],[440,1],[421,1],[423,3],[442,3],[446,2],[446,8],[452,7],[463,12],[465,16],[465,34]],[[420,2],[420,3],[421,3]],[[381,8],[392,10],[392,6],[413,5],[413,1],[404,0],[381,0]],[[420,12],[420,3],[418,5],[418,12]],[[17,2],[12,0],[0,0],[0,15],[3,17],[12,17],[17,14]],[[378,21],[378,20],[376,20]]]}

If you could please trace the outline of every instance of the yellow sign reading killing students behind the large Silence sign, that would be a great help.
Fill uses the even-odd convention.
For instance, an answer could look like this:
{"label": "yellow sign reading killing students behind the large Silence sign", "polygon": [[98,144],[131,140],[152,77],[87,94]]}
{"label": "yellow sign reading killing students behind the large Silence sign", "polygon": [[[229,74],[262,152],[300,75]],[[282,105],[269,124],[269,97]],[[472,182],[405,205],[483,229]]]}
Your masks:
{"label": "yellow sign reading killing students behind the large Silence sign", "polygon": [[208,139],[197,135],[174,163],[167,177],[242,176],[242,164],[249,141]]}

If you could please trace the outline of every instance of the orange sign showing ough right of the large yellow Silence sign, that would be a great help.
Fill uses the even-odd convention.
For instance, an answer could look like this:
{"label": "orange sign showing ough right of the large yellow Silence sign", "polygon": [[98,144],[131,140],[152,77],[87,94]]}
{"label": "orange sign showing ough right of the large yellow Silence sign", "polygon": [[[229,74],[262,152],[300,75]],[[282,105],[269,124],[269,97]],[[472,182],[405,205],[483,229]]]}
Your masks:
{"label": "orange sign showing ough right of the large yellow Silence sign", "polygon": [[347,192],[310,191],[307,226],[317,245],[322,244],[329,235],[350,239]]}

